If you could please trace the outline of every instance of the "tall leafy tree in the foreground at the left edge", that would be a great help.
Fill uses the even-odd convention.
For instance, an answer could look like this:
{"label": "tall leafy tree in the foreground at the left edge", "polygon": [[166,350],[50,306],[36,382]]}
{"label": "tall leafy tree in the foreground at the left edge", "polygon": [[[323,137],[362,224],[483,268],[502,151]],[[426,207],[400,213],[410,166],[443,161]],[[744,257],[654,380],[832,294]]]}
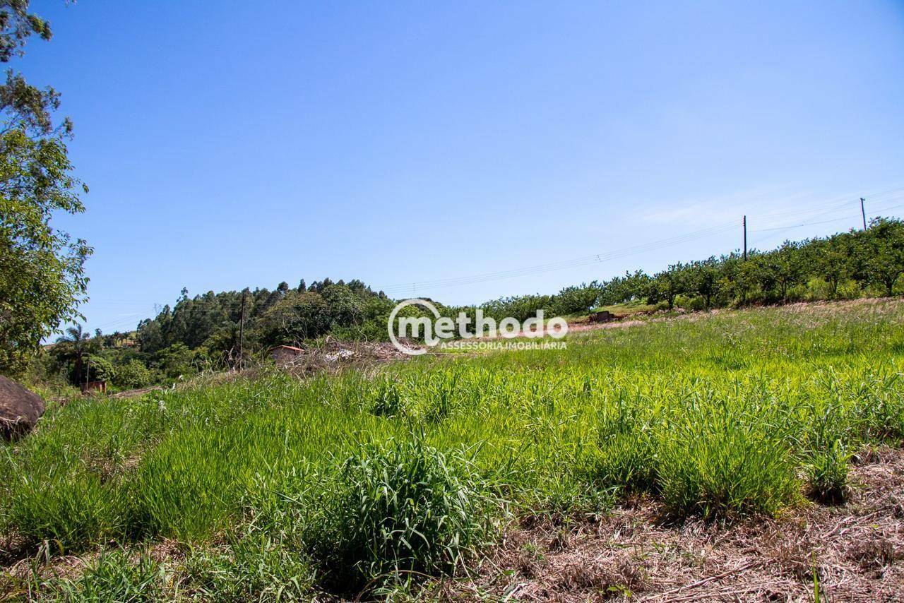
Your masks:
{"label": "tall leafy tree in the foreground at the left edge", "polygon": [[[0,0],[0,61],[24,53],[50,25],[29,0]],[[0,84],[0,373],[21,372],[43,338],[79,319],[91,249],[52,228],[54,212],[84,211],[87,188],[72,175],[66,148],[72,125],[56,119],[60,95],[13,70]]]}

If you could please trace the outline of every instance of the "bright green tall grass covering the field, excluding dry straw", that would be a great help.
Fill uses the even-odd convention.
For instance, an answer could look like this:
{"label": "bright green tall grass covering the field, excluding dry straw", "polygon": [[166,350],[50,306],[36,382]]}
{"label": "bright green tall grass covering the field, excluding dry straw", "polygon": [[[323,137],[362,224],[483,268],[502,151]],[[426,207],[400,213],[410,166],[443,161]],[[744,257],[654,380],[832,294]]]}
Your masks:
{"label": "bright green tall grass covering the field, excluding dry straw", "polygon": [[211,592],[249,548],[300,560],[307,587],[449,571],[504,512],[629,492],[679,518],[780,513],[843,492],[847,451],[904,437],[902,322],[891,300],[750,309],[563,351],[77,400],[0,450],[0,529],[66,552],[231,542],[193,566]]}

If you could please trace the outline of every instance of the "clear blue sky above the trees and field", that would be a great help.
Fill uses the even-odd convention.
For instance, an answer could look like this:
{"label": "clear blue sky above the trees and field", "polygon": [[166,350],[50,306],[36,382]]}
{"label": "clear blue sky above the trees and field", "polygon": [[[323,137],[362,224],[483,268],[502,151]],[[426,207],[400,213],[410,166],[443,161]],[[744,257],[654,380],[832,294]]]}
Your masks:
{"label": "clear blue sky above the trees and field", "polygon": [[14,67],[75,122],[91,329],[182,287],[551,293],[736,249],[745,213],[766,248],[904,211],[900,2],[33,8],[54,38]]}

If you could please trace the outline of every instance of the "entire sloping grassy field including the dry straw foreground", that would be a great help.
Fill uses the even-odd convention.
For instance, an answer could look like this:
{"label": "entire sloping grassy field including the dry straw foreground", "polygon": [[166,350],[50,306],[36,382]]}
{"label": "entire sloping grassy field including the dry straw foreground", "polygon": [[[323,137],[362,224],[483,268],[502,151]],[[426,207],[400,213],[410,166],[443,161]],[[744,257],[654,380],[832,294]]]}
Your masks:
{"label": "entire sloping grassy field including the dry straw foreground", "polygon": [[0,593],[890,596],[902,323],[898,300],[723,311],[77,400],[0,455]]}

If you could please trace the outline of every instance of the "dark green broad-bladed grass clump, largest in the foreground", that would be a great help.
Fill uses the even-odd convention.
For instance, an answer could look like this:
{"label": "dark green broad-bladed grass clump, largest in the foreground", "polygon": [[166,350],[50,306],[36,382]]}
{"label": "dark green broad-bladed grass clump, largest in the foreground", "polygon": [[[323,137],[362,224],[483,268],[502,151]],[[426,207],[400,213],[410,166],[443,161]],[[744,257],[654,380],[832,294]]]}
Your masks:
{"label": "dark green broad-bladed grass clump, largest in the foreground", "polygon": [[330,582],[355,588],[454,570],[487,542],[490,492],[463,453],[421,438],[364,445],[344,462],[315,555]]}

